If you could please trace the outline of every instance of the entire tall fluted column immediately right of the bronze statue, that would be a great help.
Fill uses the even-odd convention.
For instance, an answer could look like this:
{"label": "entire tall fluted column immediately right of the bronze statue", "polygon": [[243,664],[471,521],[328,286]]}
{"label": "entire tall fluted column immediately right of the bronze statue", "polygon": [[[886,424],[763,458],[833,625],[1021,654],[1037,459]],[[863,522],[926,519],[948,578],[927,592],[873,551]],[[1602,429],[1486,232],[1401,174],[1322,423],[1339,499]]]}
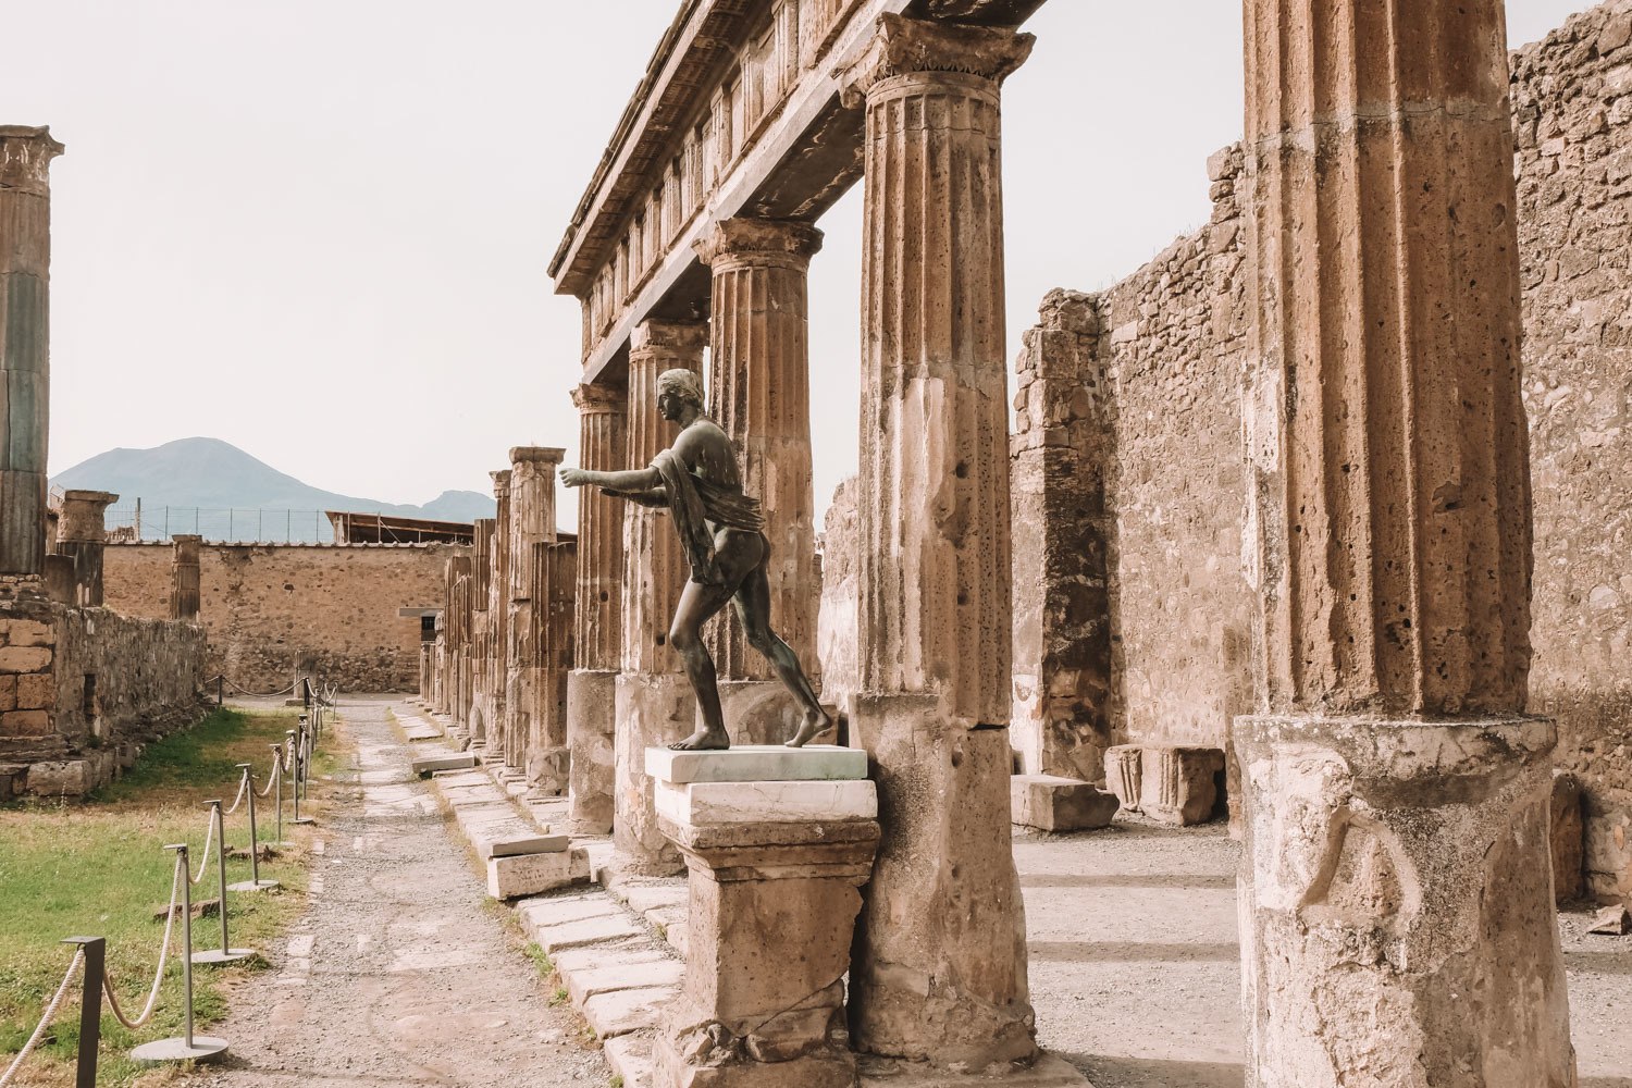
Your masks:
{"label": "entire tall fluted column immediately right of the bronze statue", "polygon": [[867,108],[852,737],[885,838],[850,974],[857,1044],[1036,1054],[1009,842],[1010,545],[999,85],[1028,34],[886,15]]}

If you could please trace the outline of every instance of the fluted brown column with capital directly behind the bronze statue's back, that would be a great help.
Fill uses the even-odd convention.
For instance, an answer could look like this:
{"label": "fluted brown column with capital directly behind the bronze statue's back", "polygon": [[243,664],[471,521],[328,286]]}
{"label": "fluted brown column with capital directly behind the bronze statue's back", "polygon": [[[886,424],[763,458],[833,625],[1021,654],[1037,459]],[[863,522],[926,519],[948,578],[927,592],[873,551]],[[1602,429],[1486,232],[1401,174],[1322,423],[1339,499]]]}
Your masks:
{"label": "fluted brown column with capital directly behind the bronze statue's back", "polygon": [[[698,243],[713,269],[712,416],[743,458],[770,542],[770,623],[806,669],[816,667],[814,501],[808,276],[821,250],[809,223],[728,219]],[[747,644],[734,608],[720,613],[710,652],[726,728],[738,744],[780,742],[800,711],[765,657]]]}

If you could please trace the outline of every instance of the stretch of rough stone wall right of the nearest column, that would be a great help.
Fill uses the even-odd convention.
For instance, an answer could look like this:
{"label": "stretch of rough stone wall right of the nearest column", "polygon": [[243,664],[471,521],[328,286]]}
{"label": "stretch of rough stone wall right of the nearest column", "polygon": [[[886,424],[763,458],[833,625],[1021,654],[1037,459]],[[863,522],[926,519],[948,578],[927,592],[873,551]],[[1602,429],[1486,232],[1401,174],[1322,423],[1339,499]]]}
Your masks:
{"label": "stretch of rough stone wall right of the nearest column", "polygon": [[1531,710],[1586,786],[1588,891],[1632,896],[1632,2],[1568,20],[1513,75]]}

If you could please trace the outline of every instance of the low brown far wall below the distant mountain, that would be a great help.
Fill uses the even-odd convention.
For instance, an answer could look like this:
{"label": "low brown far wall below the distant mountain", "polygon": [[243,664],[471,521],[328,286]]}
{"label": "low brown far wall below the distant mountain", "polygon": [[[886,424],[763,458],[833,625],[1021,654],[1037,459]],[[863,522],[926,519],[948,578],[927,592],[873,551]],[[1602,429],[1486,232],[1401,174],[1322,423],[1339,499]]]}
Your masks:
{"label": "low brown far wall below the distant mountain", "polygon": [[[441,608],[455,545],[206,543],[199,621],[209,633],[206,679],[224,674],[255,692],[289,685],[302,661],[348,692],[411,692],[419,683],[421,621],[403,608]],[[170,615],[171,546],[109,543],[109,608]]]}

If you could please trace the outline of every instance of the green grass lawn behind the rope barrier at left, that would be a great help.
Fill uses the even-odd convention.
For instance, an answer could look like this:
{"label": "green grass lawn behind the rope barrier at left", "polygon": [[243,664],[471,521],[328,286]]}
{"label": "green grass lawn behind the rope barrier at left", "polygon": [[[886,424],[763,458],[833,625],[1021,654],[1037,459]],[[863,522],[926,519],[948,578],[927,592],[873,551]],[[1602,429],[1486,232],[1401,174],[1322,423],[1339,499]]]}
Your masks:
{"label": "green grass lawn behind the rope barrier at left", "polygon": [[[65,936],[106,936],[108,969],[113,974],[126,1015],[140,1011],[158,962],[163,922],[155,920],[170,896],[175,855],[165,843],[186,842],[193,869],[207,829],[209,799],[230,804],[237,794],[237,763],[255,765],[264,785],[271,767],[269,744],[294,726],[294,711],[240,713],[217,710],[196,728],[152,744],[119,781],[96,791],[85,804],[21,803],[0,807],[0,1068],[23,1046],[39,1013],[62,980],[72,959]],[[313,762],[338,768],[343,757],[336,734],[325,732],[325,754]],[[287,780],[286,780],[286,806]],[[307,807],[302,799],[302,809]],[[317,778],[310,806],[320,811]],[[286,807],[287,816],[287,807]],[[258,806],[259,837],[274,837],[273,798]],[[299,834],[299,837],[297,837]],[[233,946],[268,951],[271,941],[305,905],[305,840],[310,832],[284,824],[286,840],[297,845],[274,860],[261,861],[261,878],[282,882],[277,891],[228,894],[228,925]],[[227,817],[227,842],[240,850],[248,843],[248,812],[242,806]],[[193,897],[214,899],[217,868],[211,860]],[[250,879],[248,858],[227,861],[227,882]],[[194,918],[194,948],[217,948],[219,918]],[[166,1073],[144,1073],[126,1055],[149,1039],[181,1033],[181,920],[171,944],[170,964],[160,990],[158,1011],[137,1033],[126,1031],[103,1010],[103,1046],[98,1085],[158,1083]],[[248,964],[225,969],[201,967],[194,972],[194,1016],[202,1029],[227,1013],[233,982]],[[78,1046],[78,982],[57,1013],[49,1042],[28,1060],[20,1085],[73,1083]]]}

